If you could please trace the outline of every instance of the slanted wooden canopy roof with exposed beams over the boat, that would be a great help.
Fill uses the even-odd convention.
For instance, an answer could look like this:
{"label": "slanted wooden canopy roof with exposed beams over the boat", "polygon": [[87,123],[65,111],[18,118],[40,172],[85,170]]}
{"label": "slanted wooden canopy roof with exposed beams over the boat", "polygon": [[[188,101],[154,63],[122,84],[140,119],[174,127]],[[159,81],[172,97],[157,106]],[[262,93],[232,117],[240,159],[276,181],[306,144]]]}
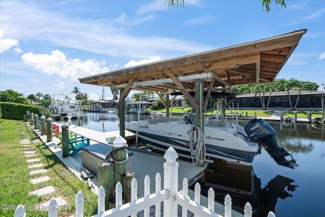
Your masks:
{"label": "slanted wooden canopy roof with exposed beams over the boat", "polygon": [[307,29],[198,54],[79,78],[81,83],[155,92],[194,90],[204,79],[205,89],[272,82]]}

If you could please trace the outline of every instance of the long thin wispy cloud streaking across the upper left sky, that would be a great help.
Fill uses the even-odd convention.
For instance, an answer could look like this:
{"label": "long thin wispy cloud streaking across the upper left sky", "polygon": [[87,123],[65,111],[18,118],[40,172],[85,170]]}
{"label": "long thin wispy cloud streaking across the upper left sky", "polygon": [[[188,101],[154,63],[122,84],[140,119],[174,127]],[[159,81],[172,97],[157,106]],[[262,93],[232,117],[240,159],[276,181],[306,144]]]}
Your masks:
{"label": "long thin wispy cloud streaking across the upper left sky", "polygon": [[[20,9],[19,16],[17,8]],[[139,11],[144,13],[169,9],[161,1],[155,1]],[[201,46],[183,39],[132,35],[129,34],[129,28],[125,28],[125,25],[139,24],[156,15],[128,18],[125,14],[119,14],[115,20],[89,20],[69,17],[63,12],[45,11],[36,4],[27,4],[24,1],[7,1],[2,5],[2,11],[5,12],[4,15],[11,17],[1,23],[9,35],[21,41],[38,41],[49,47],[68,47],[128,58],[146,58],[164,52],[165,59],[176,57],[178,54],[175,51],[186,55],[212,49],[210,46]]]}

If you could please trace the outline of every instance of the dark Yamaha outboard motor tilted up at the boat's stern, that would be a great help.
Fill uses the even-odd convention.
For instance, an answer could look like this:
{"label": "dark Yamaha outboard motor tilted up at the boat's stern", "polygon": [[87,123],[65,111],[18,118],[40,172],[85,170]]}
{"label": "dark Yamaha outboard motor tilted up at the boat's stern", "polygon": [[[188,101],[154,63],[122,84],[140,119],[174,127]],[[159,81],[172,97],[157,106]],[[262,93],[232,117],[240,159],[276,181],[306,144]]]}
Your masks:
{"label": "dark Yamaha outboard motor tilted up at the boat's stern", "polygon": [[296,164],[296,161],[284,158],[290,156],[290,154],[278,145],[275,138],[275,130],[264,119],[251,119],[246,123],[244,130],[249,139],[265,146],[266,151],[278,165],[294,169],[293,164]]}

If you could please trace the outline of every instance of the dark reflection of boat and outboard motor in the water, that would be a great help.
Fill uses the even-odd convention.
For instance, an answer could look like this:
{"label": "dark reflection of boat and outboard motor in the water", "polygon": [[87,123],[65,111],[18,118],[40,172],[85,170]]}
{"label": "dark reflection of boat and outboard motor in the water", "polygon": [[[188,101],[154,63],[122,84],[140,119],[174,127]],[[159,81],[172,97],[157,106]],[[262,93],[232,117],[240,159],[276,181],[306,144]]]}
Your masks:
{"label": "dark reflection of boat and outboard motor in the water", "polygon": [[215,201],[223,204],[225,195],[229,194],[232,197],[232,208],[241,213],[244,213],[244,206],[249,202],[253,216],[267,216],[270,211],[275,212],[278,198],[284,200],[293,197],[288,192],[298,187],[291,184],[295,180],[276,175],[262,188],[261,179],[253,167],[226,163],[209,165],[204,178],[205,181],[200,184],[205,196],[213,188]]}

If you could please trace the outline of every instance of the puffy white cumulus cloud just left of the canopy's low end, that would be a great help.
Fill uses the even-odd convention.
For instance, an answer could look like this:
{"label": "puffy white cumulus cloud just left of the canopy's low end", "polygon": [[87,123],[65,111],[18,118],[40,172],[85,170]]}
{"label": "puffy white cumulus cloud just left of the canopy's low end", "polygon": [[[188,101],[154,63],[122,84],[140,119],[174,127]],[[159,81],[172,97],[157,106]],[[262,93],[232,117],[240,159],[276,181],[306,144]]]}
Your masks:
{"label": "puffy white cumulus cloud just left of the canopy's low end", "polygon": [[106,64],[105,61],[67,59],[66,55],[59,50],[53,50],[51,54],[28,52],[23,54],[21,59],[26,65],[47,75],[56,75],[71,80],[109,71],[108,67],[103,67]]}

